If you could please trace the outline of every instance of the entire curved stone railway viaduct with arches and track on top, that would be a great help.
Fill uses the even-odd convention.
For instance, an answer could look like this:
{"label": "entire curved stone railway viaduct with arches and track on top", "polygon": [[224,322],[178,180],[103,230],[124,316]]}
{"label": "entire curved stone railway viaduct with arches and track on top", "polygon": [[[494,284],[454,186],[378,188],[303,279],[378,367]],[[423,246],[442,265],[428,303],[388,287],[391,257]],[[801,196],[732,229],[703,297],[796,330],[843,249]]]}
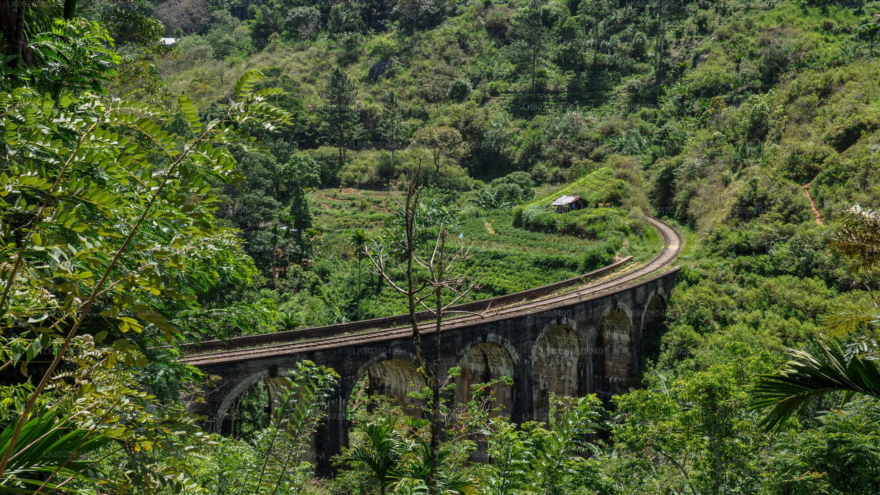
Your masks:
{"label": "entire curved stone railway viaduct with arches and track on top", "polygon": [[[522,292],[524,304],[497,307],[516,299],[511,296],[469,303],[466,309],[488,310],[480,317],[445,322],[439,349],[433,326],[422,327],[425,357],[431,360],[439,352],[441,370],[461,367],[456,402],[469,399],[473,383],[510,376],[513,385],[496,386],[495,397],[502,414],[522,422],[546,420],[551,392],[608,399],[626,390],[641,372],[642,357],[656,353],[665,307],[678,280],[678,268],[667,265],[678,254],[680,237],[655,218],[649,222],[664,237],[664,249],[642,267],[606,275],[628,261],[623,260],[567,281],[583,284],[605,276],[573,292],[537,297],[561,284]],[[208,417],[209,428],[228,432],[227,413],[247,388],[266,380],[271,393],[272,383],[304,359],[332,367],[341,380],[315,441],[319,473],[331,473],[330,458],[348,446],[348,400],[359,380],[369,376],[370,394],[391,396],[402,405],[412,400],[407,397],[414,389],[410,384],[423,383],[414,364],[412,330],[386,328],[403,321],[394,316],[194,344],[185,361],[221,379],[194,412]],[[370,328],[378,330],[363,331]]]}

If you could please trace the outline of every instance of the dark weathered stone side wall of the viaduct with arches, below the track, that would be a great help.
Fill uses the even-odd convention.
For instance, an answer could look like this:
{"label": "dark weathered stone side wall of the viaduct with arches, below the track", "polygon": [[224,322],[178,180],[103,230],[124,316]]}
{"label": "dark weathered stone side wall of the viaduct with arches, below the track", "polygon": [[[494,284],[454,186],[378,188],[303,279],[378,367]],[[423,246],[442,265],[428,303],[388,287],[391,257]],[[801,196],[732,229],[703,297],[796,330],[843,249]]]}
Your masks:
{"label": "dark weathered stone side wall of the viaduct with arches, below the track", "polygon": [[[656,336],[678,269],[600,293],[574,303],[532,314],[487,318],[478,323],[444,328],[440,343],[441,369],[462,366],[457,401],[466,401],[469,385],[513,378],[511,387],[497,390],[505,415],[514,421],[546,420],[548,396],[595,393],[603,399],[626,390],[638,377],[646,342]],[[423,349],[434,356],[434,335],[426,327]],[[363,335],[341,345],[310,351],[285,351],[290,346],[265,349],[260,358],[236,358],[227,353],[216,361],[202,360],[203,372],[221,378],[194,412],[208,417],[209,427],[224,430],[223,420],[233,401],[259,380],[284,376],[297,361],[309,359],[334,368],[340,386],[328,403],[325,424],[315,446],[319,471],[332,471],[330,458],[348,445],[348,397],[358,380],[370,373],[370,391],[407,404],[415,374],[411,336]],[[412,404],[409,404],[412,405]],[[220,420],[218,420],[220,418]]]}

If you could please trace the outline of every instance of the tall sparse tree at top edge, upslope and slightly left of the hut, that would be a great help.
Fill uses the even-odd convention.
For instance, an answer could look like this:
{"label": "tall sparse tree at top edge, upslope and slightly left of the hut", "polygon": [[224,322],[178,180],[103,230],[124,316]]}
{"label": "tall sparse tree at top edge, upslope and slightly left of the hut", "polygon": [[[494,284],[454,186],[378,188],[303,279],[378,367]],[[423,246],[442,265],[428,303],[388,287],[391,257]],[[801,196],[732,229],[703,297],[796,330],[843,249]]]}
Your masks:
{"label": "tall sparse tree at top edge, upslope and slightly left of the hut", "polygon": [[535,92],[535,73],[546,60],[547,46],[551,41],[551,31],[545,24],[546,5],[532,0],[520,8],[513,18],[513,42],[508,55],[519,70],[527,70],[532,77],[532,92]]}

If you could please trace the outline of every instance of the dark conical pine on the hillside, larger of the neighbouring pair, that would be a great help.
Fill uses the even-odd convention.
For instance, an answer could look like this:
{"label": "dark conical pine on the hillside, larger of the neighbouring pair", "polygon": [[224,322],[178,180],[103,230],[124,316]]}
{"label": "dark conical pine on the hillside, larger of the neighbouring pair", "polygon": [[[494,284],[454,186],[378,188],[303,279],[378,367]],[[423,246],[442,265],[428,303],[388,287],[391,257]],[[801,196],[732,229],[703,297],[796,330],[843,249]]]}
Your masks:
{"label": "dark conical pine on the hillside, larger of the neighbouring pair", "polygon": [[326,137],[339,150],[339,166],[345,161],[345,149],[363,134],[363,125],[357,115],[357,90],[348,74],[338,65],[334,67],[324,90],[324,119]]}

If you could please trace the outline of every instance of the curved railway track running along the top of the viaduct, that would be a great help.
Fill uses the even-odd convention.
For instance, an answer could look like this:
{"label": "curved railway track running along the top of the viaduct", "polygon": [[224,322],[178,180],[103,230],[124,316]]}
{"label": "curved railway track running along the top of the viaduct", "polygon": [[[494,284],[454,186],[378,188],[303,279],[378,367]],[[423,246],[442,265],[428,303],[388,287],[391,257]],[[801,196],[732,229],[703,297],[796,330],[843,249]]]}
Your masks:
{"label": "curved railway track running along the top of the viaduct", "polygon": [[[572,292],[550,296],[539,300],[526,302],[507,307],[498,307],[486,314],[469,314],[457,318],[451,318],[444,321],[443,329],[457,328],[463,325],[473,324],[474,322],[491,321],[500,318],[509,318],[522,314],[534,313],[536,311],[546,311],[555,307],[562,307],[577,301],[588,299],[599,292],[606,292],[612,289],[619,289],[642,277],[654,275],[664,269],[675,257],[681,249],[681,235],[661,220],[648,217],[651,225],[654,225],[657,232],[660,233],[664,240],[664,247],[651,261],[645,263],[641,267],[611,275],[605,280],[584,285]],[[430,334],[434,330],[433,326],[425,325],[422,333]],[[200,365],[216,365],[224,362],[240,361],[246,359],[260,358],[277,354],[295,354],[299,352],[319,351],[321,349],[333,348],[347,344],[368,344],[371,342],[383,341],[386,339],[400,338],[412,336],[412,329],[409,327],[396,329],[379,329],[353,335],[327,336],[319,337],[312,340],[291,342],[286,344],[271,344],[261,347],[231,349],[227,351],[216,351],[204,354],[194,354],[187,356],[183,360],[192,366]]]}

